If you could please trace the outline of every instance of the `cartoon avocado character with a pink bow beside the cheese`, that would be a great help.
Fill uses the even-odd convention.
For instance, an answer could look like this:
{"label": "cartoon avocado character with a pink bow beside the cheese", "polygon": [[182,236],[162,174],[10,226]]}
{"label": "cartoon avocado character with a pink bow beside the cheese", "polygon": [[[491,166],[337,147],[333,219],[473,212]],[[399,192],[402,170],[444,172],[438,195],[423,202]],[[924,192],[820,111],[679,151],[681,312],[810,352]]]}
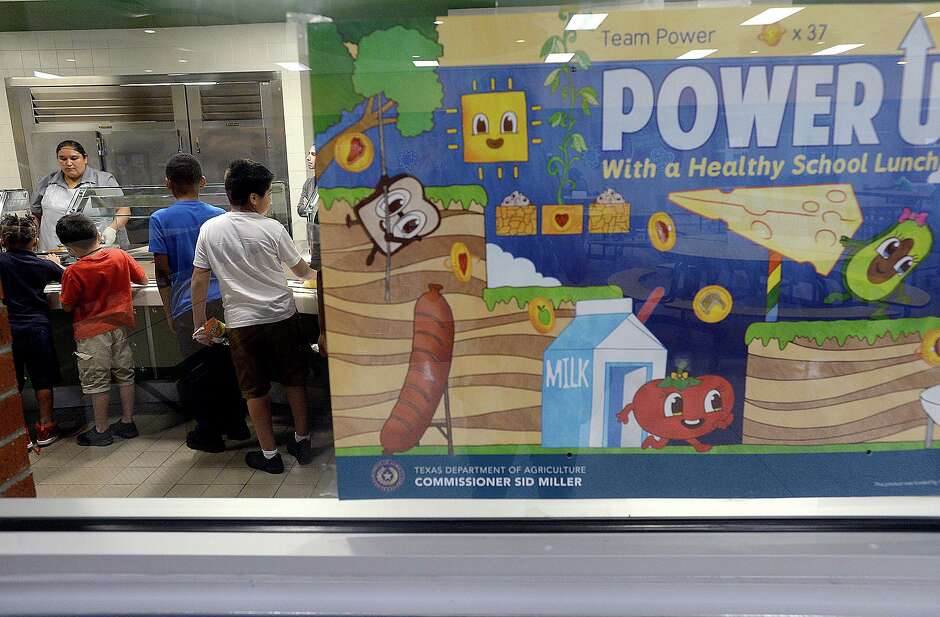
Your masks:
{"label": "cartoon avocado character with a pink bow beside the cheese", "polygon": [[845,293],[826,297],[826,304],[845,302],[852,298],[877,303],[872,317],[884,317],[886,302],[892,295],[907,300],[904,279],[930,254],[933,234],[927,226],[927,213],[914,213],[904,208],[898,222],[868,242],[842,237],[842,244],[855,249],[843,268]]}

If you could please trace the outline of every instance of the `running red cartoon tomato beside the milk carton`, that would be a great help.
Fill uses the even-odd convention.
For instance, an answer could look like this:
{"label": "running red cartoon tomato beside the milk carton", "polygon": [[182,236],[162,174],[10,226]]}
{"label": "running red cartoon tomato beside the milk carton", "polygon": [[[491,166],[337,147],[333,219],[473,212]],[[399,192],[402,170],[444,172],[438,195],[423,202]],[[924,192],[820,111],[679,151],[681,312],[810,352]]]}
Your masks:
{"label": "running red cartoon tomato beside the milk carton", "polygon": [[719,428],[728,428],[734,416],[734,390],[728,380],[717,375],[689,377],[684,365],[665,379],[655,379],[637,390],[633,402],[617,414],[623,424],[630,412],[650,435],[644,448],[665,448],[670,440],[683,440],[697,452],[711,446],[698,440]]}

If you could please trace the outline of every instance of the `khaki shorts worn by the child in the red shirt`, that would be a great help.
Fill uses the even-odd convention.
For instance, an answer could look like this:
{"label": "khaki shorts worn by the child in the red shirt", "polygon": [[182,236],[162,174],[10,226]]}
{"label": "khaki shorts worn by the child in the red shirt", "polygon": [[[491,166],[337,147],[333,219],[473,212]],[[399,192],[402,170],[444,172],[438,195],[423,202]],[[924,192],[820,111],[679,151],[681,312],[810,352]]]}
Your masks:
{"label": "khaki shorts worn by the child in the red shirt", "polygon": [[77,341],[78,378],[84,394],[111,389],[111,376],[118,384],[134,383],[134,351],[124,328]]}

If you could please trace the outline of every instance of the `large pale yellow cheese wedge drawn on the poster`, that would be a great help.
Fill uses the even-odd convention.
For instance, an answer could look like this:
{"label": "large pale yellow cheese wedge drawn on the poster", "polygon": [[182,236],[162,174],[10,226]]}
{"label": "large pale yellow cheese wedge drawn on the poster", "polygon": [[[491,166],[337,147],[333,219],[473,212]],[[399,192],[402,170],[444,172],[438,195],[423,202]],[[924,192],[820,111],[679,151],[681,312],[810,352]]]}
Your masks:
{"label": "large pale yellow cheese wedge drawn on the poster", "polygon": [[845,247],[842,236],[862,224],[862,211],[850,184],[810,184],[678,191],[669,201],[827,276]]}

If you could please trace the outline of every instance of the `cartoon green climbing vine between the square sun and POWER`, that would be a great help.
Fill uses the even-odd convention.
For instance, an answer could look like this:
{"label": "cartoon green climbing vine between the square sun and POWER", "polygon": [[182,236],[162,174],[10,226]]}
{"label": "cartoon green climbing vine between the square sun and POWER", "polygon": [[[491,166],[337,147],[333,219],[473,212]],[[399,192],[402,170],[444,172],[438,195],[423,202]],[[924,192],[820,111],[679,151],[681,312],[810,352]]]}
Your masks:
{"label": "cartoon green climbing vine between the square sun and POWER", "polygon": [[[568,23],[571,13],[562,9],[558,13],[558,18],[564,24]],[[584,117],[591,115],[591,106],[596,106],[597,91],[590,86],[577,87],[574,80],[574,73],[577,69],[587,70],[591,66],[591,59],[587,53],[580,49],[572,49],[578,39],[578,33],[573,30],[562,30],[560,35],[552,35],[542,44],[542,50],[539,56],[544,59],[549,54],[574,54],[571,60],[565,62],[562,66],[554,69],[545,78],[545,86],[551,88],[553,93],[558,93],[562,98],[562,108],[556,111],[549,118],[549,124],[552,127],[564,131],[561,144],[558,146],[558,153],[553,154],[548,159],[546,165],[550,176],[558,177],[558,190],[555,197],[561,204],[566,189],[575,189],[577,187],[574,180],[571,179],[571,167],[581,159],[581,155],[587,151],[587,142],[584,135],[575,130],[577,113],[580,109]]]}

